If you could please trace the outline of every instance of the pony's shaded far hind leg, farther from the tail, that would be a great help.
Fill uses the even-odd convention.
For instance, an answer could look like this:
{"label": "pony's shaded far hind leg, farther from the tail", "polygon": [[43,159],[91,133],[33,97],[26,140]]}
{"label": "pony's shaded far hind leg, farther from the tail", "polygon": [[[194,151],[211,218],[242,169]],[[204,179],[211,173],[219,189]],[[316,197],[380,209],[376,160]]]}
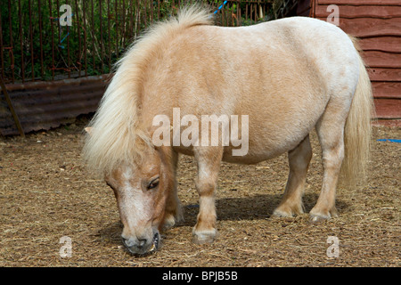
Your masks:
{"label": "pony's shaded far hind leg, farther from the tail", "polygon": [[302,195],[307,179],[307,168],[312,159],[309,135],[294,150],[289,151],[288,159],[290,174],[282,201],[273,212],[274,216],[293,216],[304,212]]}

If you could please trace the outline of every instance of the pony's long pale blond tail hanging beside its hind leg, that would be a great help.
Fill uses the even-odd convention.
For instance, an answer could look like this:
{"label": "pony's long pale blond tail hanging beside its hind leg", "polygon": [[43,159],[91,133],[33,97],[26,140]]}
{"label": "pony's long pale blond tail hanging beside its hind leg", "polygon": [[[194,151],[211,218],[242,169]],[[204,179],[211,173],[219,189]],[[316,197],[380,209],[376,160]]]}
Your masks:
{"label": "pony's long pale blond tail hanging beside its hind leg", "polygon": [[[350,38],[356,50],[360,52],[356,38]],[[364,61],[359,54],[359,79],[344,132],[345,157],[342,162],[341,175],[346,183],[355,185],[357,182],[364,182],[366,177],[373,114],[372,84]]]}

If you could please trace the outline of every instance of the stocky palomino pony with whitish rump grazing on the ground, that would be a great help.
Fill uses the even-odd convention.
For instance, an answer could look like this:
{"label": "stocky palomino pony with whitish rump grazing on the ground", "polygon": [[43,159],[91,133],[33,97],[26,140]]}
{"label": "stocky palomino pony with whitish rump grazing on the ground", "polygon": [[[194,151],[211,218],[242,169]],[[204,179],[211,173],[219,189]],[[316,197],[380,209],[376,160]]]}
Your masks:
{"label": "stocky palomino pony with whitish rump grazing on the ground", "polygon": [[[337,216],[340,168],[345,178],[364,175],[371,133],[372,88],[354,44],[322,20],[295,17],[222,28],[212,25],[209,12],[193,6],[136,41],[119,61],[86,127],[83,150],[87,165],[115,193],[129,251],[159,248],[160,230],[182,215],[176,193],[178,153],[193,155],[198,167],[194,242],[212,242],[217,236],[215,191],[222,160],[255,164],[288,152],[290,174],[273,214],[303,213],[314,128],[322,148],[323,183],[310,216],[312,222]],[[177,109],[180,116],[191,116],[178,131],[170,125]],[[210,132],[193,132],[190,144],[169,143],[189,122],[199,123],[206,115],[241,115],[243,121],[246,116],[248,124],[241,124],[237,134],[246,139],[247,151],[233,155],[238,143],[224,145],[221,138],[217,145],[200,144]],[[162,121],[155,124],[158,116],[170,122],[167,132],[160,132]],[[154,143],[156,131],[163,143]]]}

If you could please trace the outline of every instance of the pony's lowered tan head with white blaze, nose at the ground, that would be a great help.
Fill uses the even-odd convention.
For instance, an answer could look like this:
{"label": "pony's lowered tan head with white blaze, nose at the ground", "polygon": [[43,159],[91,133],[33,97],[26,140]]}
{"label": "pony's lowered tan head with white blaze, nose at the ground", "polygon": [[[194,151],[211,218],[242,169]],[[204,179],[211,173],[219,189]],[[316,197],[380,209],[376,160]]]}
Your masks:
{"label": "pony's lowered tan head with white blaze, nose at the ground", "polygon": [[[90,133],[91,129],[86,128]],[[89,134],[90,135],[90,134]],[[121,238],[133,254],[143,255],[160,247],[160,228],[171,185],[168,159],[162,149],[138,139],[141,156],[120,161],[104,172],[105,182],[114,191],[124,226]]]}

